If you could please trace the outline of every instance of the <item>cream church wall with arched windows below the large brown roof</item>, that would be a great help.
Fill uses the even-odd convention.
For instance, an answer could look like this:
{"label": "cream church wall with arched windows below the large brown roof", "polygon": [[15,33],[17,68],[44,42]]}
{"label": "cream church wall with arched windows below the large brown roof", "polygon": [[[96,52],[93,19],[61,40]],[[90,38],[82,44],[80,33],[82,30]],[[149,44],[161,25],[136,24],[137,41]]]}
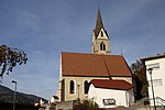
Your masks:
{"label": "cream church wall with arched windows below the large brown roof", "polygon": [[[109,77],[67,77],[67,76],[63,76],[62,79],[64,79],[65,81],[65,101],[69,101],[69,100],[76,100],[78,98],[78,92],[79,92],[79,98],[81,100],[84,99],[88,99],[88,95],[85,94],[85,85],[84,82],[87,80],[88,82],[90,82],[92,79],[109,79]],[[130,84],[132,84],[132,78],[131,77],[112,77],[112,79],[123,79],[129,81]],[[75,82],[75,94],[69,94],[69,81],[74,80]],[[77,85],[79,86],[79,90],[77,88]],[[62,87],[62,81],[59,81],[59,86]],[[58,89],[58,97],[61,100],[61,92],[62,92],[62,88],[59,87]]]}

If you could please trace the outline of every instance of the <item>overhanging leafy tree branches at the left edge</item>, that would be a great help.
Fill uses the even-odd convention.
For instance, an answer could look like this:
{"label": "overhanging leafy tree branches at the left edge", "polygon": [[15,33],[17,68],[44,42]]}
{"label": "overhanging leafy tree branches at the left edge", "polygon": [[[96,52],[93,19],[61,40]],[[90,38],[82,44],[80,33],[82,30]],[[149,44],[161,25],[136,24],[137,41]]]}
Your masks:
{"label": "overhanging leafy tree branches at the left edge", "polygon": [[2,78],[4,74],[9,75],[16,65],[26,64],[26,54],[18,48],[11,48],[7,45],[0,46],[0,77]]}

